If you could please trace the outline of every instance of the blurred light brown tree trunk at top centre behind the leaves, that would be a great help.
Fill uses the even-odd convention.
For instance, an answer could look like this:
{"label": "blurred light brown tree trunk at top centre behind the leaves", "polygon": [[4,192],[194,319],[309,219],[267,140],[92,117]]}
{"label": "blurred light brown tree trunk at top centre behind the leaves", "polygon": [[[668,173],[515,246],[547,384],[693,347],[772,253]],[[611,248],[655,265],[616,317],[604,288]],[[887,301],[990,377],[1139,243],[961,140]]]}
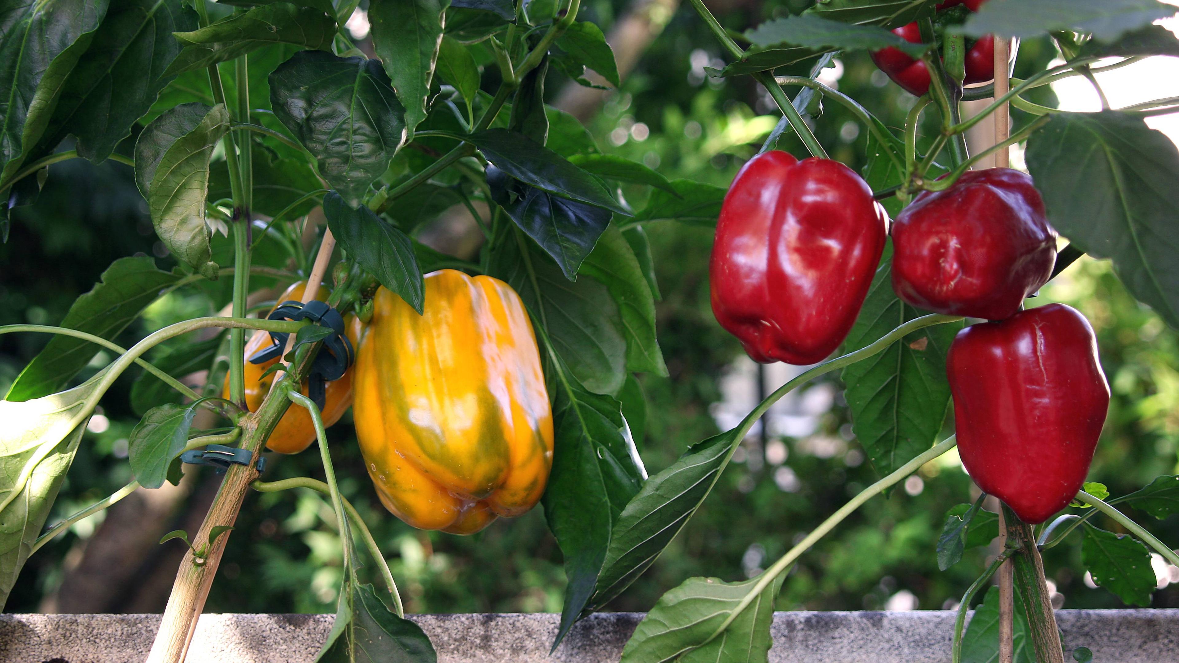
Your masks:
{"label": "blurred light brown tree trunk at top centre behind the leaves", "polygon": [[[618,64],[620,79],[626,80],[626,74],[631,73],[647,46],[659,37],[678,6],[679,0],[634,0],[623,18],[610,28],[606,42],[614,50],[614,61]],[[587,72],[586,78],[597,85],[606,84],[594,72]],[[553,105],[585,123],[598,112],[607,93],[607,90],[569,81],[565,84]]]}

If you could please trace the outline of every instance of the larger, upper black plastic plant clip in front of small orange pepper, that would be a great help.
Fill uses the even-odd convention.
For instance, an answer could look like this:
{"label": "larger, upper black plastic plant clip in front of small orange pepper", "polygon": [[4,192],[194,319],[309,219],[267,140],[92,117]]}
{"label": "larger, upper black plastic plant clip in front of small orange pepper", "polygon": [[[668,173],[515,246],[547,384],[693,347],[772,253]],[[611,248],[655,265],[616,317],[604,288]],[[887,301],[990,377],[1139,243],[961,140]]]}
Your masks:
{"label": "larger, upper black plastic plant clip in front of small orange pepper", "polygon": [[[294,320],[296,322],[310,320],[332,332],[331,335],[322,339],[323,348],[315,356],[307,376],[308,395],[320,409],[323,409],[328,382],[343,378],[348,367],[356,360],[353,343],[344,334],[343,316],[336,309],[320,301],[305,304],[291,301],[283,302],[276,308],[270,314],[269,320]],[[270,332],[271,346],[255,353],[250,357],[250,363],[263,363],[281,356],[283,348],[286,347],[288,337],[289,334],[284,332]]]}

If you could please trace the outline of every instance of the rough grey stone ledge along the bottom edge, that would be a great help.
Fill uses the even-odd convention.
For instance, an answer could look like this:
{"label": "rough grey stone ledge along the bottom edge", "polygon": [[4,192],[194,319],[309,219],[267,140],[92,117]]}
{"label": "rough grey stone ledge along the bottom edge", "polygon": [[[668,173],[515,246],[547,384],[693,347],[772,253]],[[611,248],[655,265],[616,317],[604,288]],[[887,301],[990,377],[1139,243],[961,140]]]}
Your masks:
{"label": "rough grey stone ledge along the bottom edge", "polygon": [[[440,663],[617,662],[643,618],[607,612],[582,621],[549,657],[559,615],[413,615]],[[1179,661],[1179,609],[1061,610],[1065,646],[1100,663]],[[204,615],[189,663],[304,663],[330,615]],[[5,663],[137,663],[159,615],[0,615]],[[776,612],[772,663],[946,663],[954,612]]]}

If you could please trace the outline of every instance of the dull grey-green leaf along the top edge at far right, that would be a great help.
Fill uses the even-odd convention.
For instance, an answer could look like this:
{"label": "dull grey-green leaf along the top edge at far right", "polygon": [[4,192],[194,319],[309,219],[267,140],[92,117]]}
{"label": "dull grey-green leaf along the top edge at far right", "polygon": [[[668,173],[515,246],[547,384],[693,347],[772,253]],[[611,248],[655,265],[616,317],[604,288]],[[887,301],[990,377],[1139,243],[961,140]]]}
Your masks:
{"label": "dull grey-green leaf along the top edge at far right", "polygon": [[1112,41],[1174,13],[1174,7],[1157,0],[992,0],[970,14],[962,33],[1035,37],[1071,29]]}

